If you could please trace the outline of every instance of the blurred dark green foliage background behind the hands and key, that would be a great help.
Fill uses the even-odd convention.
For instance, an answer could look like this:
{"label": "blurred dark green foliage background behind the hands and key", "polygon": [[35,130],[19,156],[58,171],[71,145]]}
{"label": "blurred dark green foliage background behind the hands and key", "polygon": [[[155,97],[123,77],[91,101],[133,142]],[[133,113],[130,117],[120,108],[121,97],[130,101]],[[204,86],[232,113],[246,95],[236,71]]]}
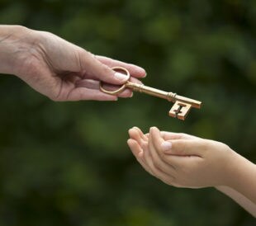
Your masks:
{"label": "blurred dark green foliage background behind the hands and key", "polygon": [[[149,176],[126,145],[136,125],[216,139],[256,160],[256,1],[0,0],[0,23],[50,31],[138,64],[145,84],[203,102],[186,121],[168,101],[54,102],[0,78],[0,225],[253,225],[214,188]],[[252,178],[255,179],[255,178]]]}

